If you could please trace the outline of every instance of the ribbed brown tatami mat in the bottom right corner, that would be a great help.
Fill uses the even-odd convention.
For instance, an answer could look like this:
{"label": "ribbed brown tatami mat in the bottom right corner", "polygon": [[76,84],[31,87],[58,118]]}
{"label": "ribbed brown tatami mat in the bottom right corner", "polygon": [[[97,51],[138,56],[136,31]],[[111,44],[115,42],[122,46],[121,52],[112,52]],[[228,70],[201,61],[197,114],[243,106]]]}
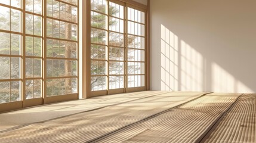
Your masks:
{"label": "ribbed brown tatami mat in the bottom right corner", "polygon": [[206,142],[256,142],[256,94],[244,94]]}

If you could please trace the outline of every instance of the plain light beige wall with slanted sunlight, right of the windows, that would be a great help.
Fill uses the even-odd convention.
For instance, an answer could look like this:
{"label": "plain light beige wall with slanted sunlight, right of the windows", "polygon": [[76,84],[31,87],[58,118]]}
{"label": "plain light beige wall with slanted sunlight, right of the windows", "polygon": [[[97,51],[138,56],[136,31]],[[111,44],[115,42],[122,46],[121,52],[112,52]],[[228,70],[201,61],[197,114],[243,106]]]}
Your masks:
{"label": "plain light beige wall with slanted sunlight, right of the windows", "polygon": [[151,0],[151,89],[256,92],[255,5]]}

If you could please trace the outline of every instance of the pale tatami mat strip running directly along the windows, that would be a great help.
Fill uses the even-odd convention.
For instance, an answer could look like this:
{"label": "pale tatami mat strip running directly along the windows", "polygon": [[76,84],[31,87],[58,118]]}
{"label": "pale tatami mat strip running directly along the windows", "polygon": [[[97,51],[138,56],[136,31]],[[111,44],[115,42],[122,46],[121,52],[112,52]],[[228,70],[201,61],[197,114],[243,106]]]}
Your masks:
{"label": "pale tatami mat strip running directly along the windows", "polygon": [[143,91],[127,94],[106,95],[86,100],[59,102],[56,104],[41,105],[38,107],[2,113],[0,114],[0,132],[10,128],[16,128],[17,126],[44,122],[58,117],[97,110],[98,108],[103,108],[109,105],[135,101],[163,93],[169,93],[169,91]]}

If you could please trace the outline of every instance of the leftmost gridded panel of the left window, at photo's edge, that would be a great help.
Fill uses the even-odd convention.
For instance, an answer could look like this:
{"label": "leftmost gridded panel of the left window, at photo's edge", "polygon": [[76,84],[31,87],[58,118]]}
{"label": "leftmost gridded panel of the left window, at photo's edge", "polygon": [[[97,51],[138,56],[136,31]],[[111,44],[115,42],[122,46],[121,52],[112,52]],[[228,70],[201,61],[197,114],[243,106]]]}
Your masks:
{"label": "leftmost gridded panel of the left window, at photo's edge", "polygon": [[[4,2],[4,1],[3,1]],[[16,6],[16,7],[15,7]],[[0,3],[0,104],[21,100],[21,8],[11,1]],[[7,11],[4,11],[7,10]],[[16,11],[16,13],[14,13]],[[14,17],[11,15],[14,14]],[[18,14],[18,15],[16,15]],[[7,15],[7,17],[5,17]],[[16,19],[13,19],[16,18]],[[4,23],[3,23],[4,22]],[[6,23],[5,23],[6,22]],[[8,23],[9,22],[9,23]]]}

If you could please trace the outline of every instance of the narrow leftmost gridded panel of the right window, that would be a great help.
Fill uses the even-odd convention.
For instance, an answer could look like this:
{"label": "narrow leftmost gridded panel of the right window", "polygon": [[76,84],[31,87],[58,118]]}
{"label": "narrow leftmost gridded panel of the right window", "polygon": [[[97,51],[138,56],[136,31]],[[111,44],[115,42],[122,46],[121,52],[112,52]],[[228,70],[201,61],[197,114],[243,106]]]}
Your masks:
{"label": "narrow leftmost gridded panel of the right window", "polygon": [[[96,2],[97,1],[97,2]],[[91,5],[97,4],[93,10],[91,7],[91,91],[102,91],[108,88],[108,2],[105,0],[101,1],[101,5],[98,0],[91,0]],[[104,3],[104,4],[103,4]],[[97,8],[103,7],[97,10]],[[104,13],[105,11],[105,13]],[[102,20],[102,25],[98,24],[98,21]],[[102,38],[99,35],[102,35]],[[100,40],[99,40],[100,39]],[[99,70],[100,69],[100,70]]]}

